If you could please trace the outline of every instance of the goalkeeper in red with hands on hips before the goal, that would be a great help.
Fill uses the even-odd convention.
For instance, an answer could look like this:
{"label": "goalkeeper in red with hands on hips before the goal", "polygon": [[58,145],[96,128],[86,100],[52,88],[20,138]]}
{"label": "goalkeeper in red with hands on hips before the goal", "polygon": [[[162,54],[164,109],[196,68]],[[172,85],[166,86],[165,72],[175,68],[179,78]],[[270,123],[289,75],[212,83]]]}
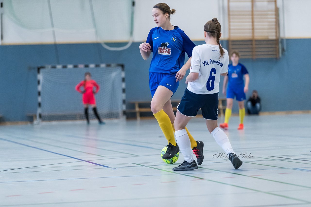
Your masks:
{"label": "goalkeeper in red with hands on hips before the goal", "polygon": [[[91,73],[86,72],[84,74],[85,79],[82,80],[77,86],[76,90],[79,93],[82,93],[82,103],[84,106],[84,114],[86,117],[87,124],[90,124],[90,119],[89,119],[89,105],[93,108],[94,115],[98,119],[99,124],[105,124],[101,119],[100,116],[98,115],[97,109],[96,109],[96,101],[95,101],[95,96],[94,94],[98,93],[99,91],[99,85],[96,83],[95,80],[91,79]],[[80,88],[83,86],[84,90],[81,91]],[[93,88],[96,88],[95,91],[93,91]]]}

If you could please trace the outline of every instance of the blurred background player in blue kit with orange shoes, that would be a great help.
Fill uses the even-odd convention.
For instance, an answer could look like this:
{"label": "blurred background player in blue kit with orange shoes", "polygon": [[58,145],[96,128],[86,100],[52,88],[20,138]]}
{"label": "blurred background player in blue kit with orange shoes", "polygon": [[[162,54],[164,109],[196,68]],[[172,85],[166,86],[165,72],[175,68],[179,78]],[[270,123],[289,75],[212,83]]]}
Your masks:
{"label": "blurred background player in blue kit with orange shoes", "polygon": [[[245,93],[248,92],[249,84],[249,75],[245,66],[239,63],[239,52],[233,51],[231,53],[232,64],[229,65],[228,75],[225,76],[222,92],[227,94],[227,106],[225,111],[225,122],[220,124],[221,128],[228,129],[228,122],[231,116],[232,105],[234,97],[239,103],[239,116],[240,124],[238,129],[244,128],[244,116],[245,116],[245,107],[244,100],[246,99]],[[243,76],[245,77],[245,85]],[[228,88],[226,91],[226,85],[228,83]]]}

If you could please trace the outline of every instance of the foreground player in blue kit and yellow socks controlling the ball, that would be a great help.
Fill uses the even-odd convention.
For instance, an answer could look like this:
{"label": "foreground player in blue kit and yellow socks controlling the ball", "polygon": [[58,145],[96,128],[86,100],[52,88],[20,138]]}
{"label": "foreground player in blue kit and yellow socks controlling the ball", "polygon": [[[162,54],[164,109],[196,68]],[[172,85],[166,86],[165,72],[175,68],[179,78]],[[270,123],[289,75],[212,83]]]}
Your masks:
{"label": "foreground player in blue kit and yellow socks controlling the ball", "polygon": [[[146,42],[139,46],[140,53],[145,60],[153,52],[149,68],[151,111],[168,140],[168,148],[163,159],[171,159],[179,152],[174,137],[175,115],[170,98],[176,92],[179,81],[190,68],[192,49],[195,47],[183,30],[171,24],[170,15],[174,13],[175,9],[171,10],[167,4],[156,4],[152,9],[152,16],[157,27],[150,30]],[[189,57],[186,64],[184,64],[185,53]],[[195,141],[188,131],[187,133],[193,153],[197,156],[198,163],[201,164],[203,142]]]}

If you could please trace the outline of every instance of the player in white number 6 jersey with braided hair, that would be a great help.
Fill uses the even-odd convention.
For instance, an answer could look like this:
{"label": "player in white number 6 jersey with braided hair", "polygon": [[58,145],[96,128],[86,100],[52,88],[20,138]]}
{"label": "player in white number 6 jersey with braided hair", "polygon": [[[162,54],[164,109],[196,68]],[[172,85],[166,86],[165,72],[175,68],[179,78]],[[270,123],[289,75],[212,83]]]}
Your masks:
{"label": "player in white number 6 jersey with braided hair", "polygon": [[217,127],[219,80],[220,75],[227,75],[229,64],[228,52],[219,43],[220,31],[217,18],[208,21],[204,25],[206,44],[193,48],[190,74],[186,79],[188,87],[177,106],[174,122],[176,140],[185,161],[173,170],[198,168],[185,127],[200,108],[208,131],[229,156],[234,168],[238,169],[242,165],[242,161],[234,154],[227,135]]}

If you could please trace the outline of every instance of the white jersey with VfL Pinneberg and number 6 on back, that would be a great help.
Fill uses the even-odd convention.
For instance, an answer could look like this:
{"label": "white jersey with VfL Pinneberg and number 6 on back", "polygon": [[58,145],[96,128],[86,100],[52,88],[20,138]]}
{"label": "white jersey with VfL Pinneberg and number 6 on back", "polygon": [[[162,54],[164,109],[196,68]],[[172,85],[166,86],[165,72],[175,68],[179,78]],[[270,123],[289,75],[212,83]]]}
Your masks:
{"label": "white jersey with VfL Pinneberg and number 6 on back", "polygon": [[218,45],[198,45],[193,48],[190,73],[199,73],[199,78],[188,83],[188,90],[197,94],[219,92],[220,74],[228,72],[229,55],[220,58]]}

